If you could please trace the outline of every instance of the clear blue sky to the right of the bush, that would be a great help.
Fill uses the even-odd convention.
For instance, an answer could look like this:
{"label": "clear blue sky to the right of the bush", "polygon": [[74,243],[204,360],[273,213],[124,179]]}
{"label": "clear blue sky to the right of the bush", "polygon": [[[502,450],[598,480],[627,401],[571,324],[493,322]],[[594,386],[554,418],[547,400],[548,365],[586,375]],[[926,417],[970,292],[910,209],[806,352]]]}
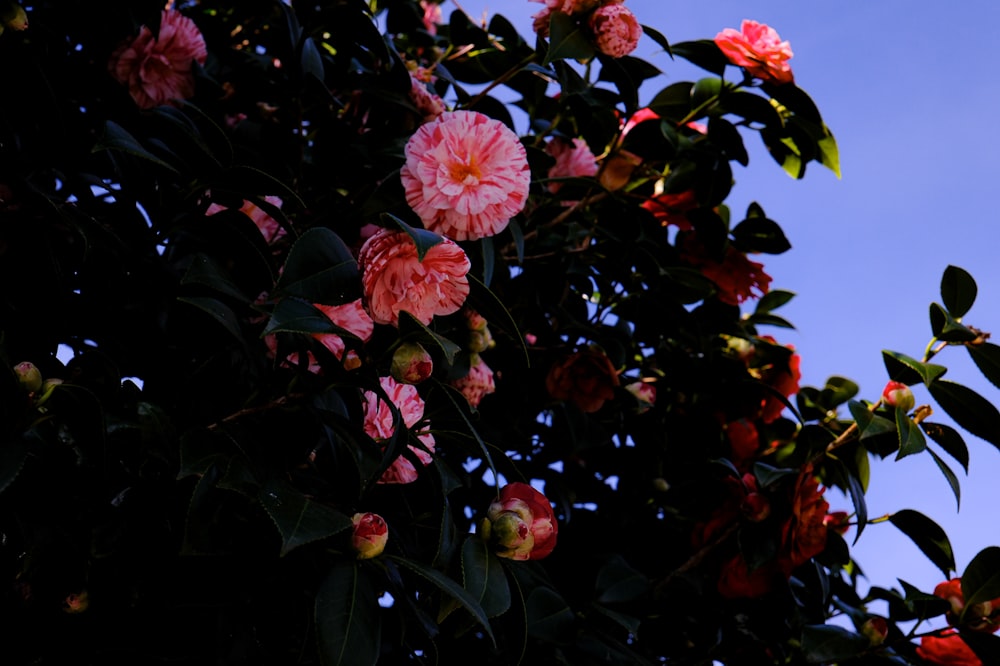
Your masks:
{"label": "clear blue sky to the right of the bush", "polygon": [[[467,0],[474,17],[502,13],[531,37],[530,16],[540,4],[521,0]],[[920,358],[931,332],[928,305],[940,302],[941,273],[949,264],[968,270],[979,298],[964,322],[993,331],[1000,343],[1000,257],[993,241],[1000,169],[1000,85],[993,46],[1000,3],[965,0],[950,6],[922,0],[802,2],[712,0],[673,3],[627,0],[645,25],[671,43],[711,39],[744,18],[775,28],[791,43],[797,84],[817,103],[837,138],[843,178],[818,164],[794,181],[746,137],[747,169],[734,164],[734,214],[757,201],[792,243],[778,257],[756,257],[773,288],[798,294],[781,310],[795,331],[769,329],[802,355],[803,384],[822,386],[843,375],[875,400],[887,379],[881,351]],[[444,6],[447,16],[452,6]],[[647,38],[633,54],[664,76],[646,83],[649,99],[660,88],[707,75],[671,61]],[[963,349],[935,359],[948,379],[1000,404],[1000,389],[979,374]],[[921,386],[917,403],[931,402]],[[953,423],[940,410],[932,420]],[[929,456],[900,462],[873,460],[870,516],[916,509],[951,537],[959,572],[983,547],[1000,545],[995,519],[1000,452],[964,433],[970,473],[951,464],[962,482],[962,507]],[[830,493],[833,509],[850,502]],[[854,532],[849,533],[852,538]],[[853,549],[872,584],[897,586],[903,578],[930,591],[937,568],[888,524],[872,525]]]}

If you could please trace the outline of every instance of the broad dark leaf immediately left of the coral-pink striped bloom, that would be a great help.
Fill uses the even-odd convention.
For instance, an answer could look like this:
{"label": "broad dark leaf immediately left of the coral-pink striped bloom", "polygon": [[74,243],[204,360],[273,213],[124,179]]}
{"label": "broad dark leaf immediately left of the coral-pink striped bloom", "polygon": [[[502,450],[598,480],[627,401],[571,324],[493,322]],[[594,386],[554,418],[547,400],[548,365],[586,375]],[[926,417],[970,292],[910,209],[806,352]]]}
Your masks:
{"label": "broad dark leaf immediately left of the coral-pink striped bloom", "polygon": [[325,227],[302,234],[288,253],[276,290],[310,303],[335,304],[357,289],[358,263],[340,236]]}

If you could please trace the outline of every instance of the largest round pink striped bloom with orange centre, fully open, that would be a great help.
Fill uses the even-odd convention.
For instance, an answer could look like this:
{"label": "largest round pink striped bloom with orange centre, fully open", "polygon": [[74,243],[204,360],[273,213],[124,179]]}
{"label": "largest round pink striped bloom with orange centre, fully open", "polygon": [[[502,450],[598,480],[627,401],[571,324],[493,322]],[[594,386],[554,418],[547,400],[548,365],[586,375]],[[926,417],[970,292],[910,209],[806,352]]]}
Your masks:
{"label": "largest round pink striped bloom with orange centre, fully open", "polygon": [[442,113],[417,129],[405,153],[406,202],[431,231],[454,240],[493,236],[527,201],[527,153],[499,120]]}

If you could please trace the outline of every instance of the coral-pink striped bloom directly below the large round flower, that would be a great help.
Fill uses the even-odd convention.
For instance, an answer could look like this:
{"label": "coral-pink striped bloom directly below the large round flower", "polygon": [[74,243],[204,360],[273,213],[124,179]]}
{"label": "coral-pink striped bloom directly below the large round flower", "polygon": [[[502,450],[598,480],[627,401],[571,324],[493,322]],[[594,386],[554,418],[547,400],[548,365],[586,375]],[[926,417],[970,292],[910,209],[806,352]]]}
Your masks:
{"label": "coral-pink striped bloom directly below the large round flower", "polygon": [[398,326],[403,310],[429,324],[437,315],[457,312],[469,295],[466,275],[472,264],[447,238],[421,261],[406,232],[382,229],[365,241],[358,263],[368,312],[378,324]]}

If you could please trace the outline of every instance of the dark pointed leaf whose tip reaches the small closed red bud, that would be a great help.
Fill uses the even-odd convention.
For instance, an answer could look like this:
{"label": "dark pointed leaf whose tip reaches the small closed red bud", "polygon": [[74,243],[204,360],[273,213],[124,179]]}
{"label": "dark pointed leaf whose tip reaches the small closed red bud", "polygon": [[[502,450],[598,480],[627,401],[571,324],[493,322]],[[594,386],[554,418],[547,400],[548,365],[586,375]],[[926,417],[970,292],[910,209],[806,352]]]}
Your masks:
{"label": "dark pointed leaf whose tip reaches the small closed red bud", "polygon": [[281,555],[351,527],[351,519],[315,502],[280,479],[268,481],[260,490],[260,504],[281,533]]}

